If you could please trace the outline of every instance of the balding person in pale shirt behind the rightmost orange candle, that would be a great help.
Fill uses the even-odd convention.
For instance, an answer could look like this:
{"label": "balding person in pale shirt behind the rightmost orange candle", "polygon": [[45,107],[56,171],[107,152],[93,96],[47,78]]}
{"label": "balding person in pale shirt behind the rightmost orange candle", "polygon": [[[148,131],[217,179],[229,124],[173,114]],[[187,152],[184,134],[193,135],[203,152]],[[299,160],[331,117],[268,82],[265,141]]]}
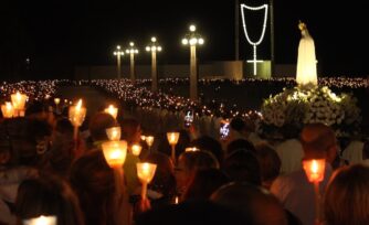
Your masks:
{"label": "balding person in pale shirt behind the rightmost orange candle", "polygon": [[[337,154],[337,141],[333,129],[323,124],[306,125],[301,133],[304,150],[303,160],[324,159],[326,167],[324,180],[319,182],[320,195],[333,173],[331,163]],[[315,190],[309,183],[304,169],[278,176],[271,186],[284,207],[296,215],[303,224],[312,225],[316,222]]]}

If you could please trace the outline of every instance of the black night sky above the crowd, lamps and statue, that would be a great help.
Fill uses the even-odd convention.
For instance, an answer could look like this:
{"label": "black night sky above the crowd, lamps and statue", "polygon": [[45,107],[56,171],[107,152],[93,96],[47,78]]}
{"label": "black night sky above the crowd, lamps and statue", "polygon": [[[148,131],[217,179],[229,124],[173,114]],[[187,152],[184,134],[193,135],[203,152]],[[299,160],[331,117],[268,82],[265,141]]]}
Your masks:
{"label": "black night sky above the crowd, lamps and statue", "polygon": [[[189,50],[180,41],[192,22],[205,39],[198,49],[200,61],[234,60],[233,0],[6,0],[1,4],[2,77],[67,77],[76,65],[113,65],[115,45],[127,46],[129,41],[140,47],[137,63],[149,64],[144,47],[151,35],[164,47],[160,63],[188,63]],[[321,75],[369,75],[368,14],[366,1],[274,0],[276,63],[296,63],[301,38],[297,22],[303,20],[315,40]],[[260,33],[257,21],[250,25],[251,35]],[[271,57],[268,28],[257,51],[263,60]],[[240,43],[240,57],[251,58],[252,49],[242,29]],[[27,57],[32,76],[25,76]]]}

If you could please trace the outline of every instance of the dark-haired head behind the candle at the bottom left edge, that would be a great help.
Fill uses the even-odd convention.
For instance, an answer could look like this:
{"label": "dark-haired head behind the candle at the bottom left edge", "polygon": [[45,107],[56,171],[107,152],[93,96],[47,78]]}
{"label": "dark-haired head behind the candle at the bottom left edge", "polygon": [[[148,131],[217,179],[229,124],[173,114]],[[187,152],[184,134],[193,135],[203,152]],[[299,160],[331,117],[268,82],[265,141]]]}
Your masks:
{"label": "dark-haired head behind the candle at the bottom left edge", "polygon": [[57,225],[83,225],[78,200],[70,185],[52,174],[24,180],[15,201],[17,217],[56,216]]}

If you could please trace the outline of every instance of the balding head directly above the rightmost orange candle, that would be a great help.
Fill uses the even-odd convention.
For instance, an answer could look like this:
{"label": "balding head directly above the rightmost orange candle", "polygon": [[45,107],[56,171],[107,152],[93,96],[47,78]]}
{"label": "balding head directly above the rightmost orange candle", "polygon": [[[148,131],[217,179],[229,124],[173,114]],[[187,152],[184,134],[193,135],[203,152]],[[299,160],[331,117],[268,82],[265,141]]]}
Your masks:
{"label": "balding head directly above the rightmost orange candle", "polygon": [[304,159],[326,159],[329,163],[336,159],[336,135],[326,125],[306,125],[301,133],[301,142],[305,154]]}

